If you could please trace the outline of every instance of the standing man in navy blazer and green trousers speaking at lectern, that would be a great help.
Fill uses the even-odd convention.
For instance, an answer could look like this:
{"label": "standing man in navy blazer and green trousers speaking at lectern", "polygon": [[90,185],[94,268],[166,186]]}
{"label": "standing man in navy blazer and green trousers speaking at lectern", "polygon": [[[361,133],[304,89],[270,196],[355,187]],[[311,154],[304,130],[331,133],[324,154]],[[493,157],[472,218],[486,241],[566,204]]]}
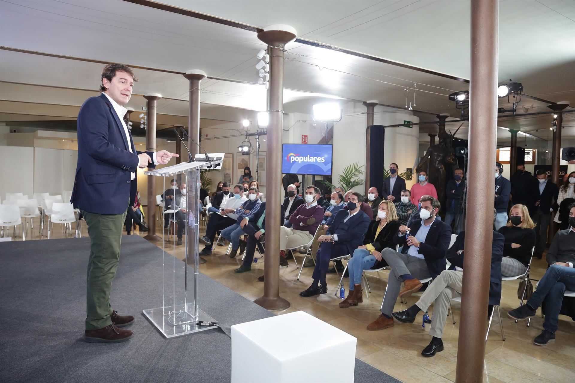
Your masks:
{"label": "standing man in navy blazer and green trousers speaking at lectern", "polygon": [[88,225],[90,258],[86,288],[86,342],[121,342],[134,321],[110,305],[110,288],[120,260],[122,226],[136,196],[136,168],[167,164],[178,154],[138,152],[124,122],[137,79],[132,69],[109,64],[102,71],[102,94],[87,99],[78,114],[78,165],[70,202]]}

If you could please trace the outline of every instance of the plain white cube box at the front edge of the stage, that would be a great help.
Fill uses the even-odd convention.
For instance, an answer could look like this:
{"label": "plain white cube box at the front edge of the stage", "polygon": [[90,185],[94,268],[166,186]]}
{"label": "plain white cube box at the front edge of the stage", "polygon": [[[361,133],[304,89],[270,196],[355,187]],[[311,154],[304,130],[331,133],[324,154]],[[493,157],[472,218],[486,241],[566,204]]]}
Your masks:
{"label": "plain white cube box at the front edge of the stage", "polygon": [[232,383],[353,382],[357,339],[303,311],[232,326]]}

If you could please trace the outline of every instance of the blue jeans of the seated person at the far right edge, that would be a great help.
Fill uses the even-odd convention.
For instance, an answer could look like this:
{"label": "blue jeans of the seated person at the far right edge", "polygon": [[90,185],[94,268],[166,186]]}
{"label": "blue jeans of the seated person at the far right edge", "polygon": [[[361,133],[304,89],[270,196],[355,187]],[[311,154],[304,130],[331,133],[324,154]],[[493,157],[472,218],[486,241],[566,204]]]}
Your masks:
{"label": "blue jeans of the seated person at the far right edge", "polygon": [[555,333],[557,331],[557,322],[559,320],[559,311],[563,302],[563,293],[565,290],[575,291],[575,269],[565,266],[551,265],[545,275],[539,281],[536,291],[527,301],[535,310],[546,299],[545,322],[543,328]]}

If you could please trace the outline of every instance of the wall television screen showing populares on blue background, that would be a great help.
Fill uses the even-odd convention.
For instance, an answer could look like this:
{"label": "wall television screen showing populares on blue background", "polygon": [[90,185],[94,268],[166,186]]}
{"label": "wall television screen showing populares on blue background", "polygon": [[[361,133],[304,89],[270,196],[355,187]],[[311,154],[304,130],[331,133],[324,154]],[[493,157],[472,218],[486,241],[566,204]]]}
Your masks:
{"label": "wall television screen showing populares on blue background", "polygon": [[331,176],[331,144],[283,144],[282,173]]}

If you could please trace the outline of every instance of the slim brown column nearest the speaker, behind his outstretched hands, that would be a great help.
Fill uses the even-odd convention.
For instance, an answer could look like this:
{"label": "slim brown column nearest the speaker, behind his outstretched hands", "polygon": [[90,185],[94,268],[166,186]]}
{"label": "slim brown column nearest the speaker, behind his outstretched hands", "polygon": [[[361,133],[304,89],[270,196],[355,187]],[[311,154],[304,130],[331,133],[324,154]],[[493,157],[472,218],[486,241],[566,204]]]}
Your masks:
{"label": "slim brown column nearest the speaker, behind his outstretched hands", "polygon": [[[148,127],[145,131],[145,150],[156,151],[156,101],[162,98],[159,94],[144,96],[147,103]],[[156,176],[148,176],[148,234],[144,237],[148,241],[159,241],[156,235]]]}

